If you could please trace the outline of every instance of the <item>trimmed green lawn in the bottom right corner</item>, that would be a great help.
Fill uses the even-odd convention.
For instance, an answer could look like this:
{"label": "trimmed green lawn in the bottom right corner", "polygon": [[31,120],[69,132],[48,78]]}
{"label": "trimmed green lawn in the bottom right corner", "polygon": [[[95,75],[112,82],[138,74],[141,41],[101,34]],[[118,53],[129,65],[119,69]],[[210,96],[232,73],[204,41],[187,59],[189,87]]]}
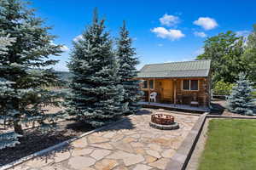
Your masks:
{"label": "trimmed green lawn in the bottom right corner", "polygon": [[256,120],[211,120],[199,170],[256,169]]}

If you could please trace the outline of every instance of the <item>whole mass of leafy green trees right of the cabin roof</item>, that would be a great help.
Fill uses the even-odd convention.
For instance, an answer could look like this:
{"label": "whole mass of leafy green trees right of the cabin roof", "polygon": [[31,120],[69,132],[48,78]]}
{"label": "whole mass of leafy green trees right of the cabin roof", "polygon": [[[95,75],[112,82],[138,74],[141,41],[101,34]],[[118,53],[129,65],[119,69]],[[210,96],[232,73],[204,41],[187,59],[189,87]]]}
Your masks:
{"label": "whole mass of leafy green trees right of the cabin roof", "polygon": [[256,25],[248,37],[237,37],[233,31],[219,33],[205,41],[204,54],[197,59],[212,59],[212,82],[236,82],[239,72],[256,82]]}

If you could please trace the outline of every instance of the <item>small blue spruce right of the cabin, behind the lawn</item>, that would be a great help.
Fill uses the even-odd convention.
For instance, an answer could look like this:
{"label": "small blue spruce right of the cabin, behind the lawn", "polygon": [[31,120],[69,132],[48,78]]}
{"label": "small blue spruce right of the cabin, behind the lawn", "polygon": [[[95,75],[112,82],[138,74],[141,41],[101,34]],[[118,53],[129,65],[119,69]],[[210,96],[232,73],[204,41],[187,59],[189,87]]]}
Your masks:
{"label": "small blue spruce right of the cabin, behind the lawn", "polygon": [[253,99],[252,92],[252,82],[246,79],[245,74],[240,73],[239,80],[228,97],[230,111],[241,115],[256,115],[256,100]]}

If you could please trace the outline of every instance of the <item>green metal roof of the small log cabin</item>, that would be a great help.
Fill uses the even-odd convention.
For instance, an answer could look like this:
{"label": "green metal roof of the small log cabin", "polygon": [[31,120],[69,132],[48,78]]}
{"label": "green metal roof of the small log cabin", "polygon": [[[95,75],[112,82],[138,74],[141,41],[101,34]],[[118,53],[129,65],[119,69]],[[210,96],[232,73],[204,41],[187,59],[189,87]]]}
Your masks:
{"label": "green metal roof of the small log cabin", "polygon": [[210,67],[210,59],[144,65],[137,77],[208,77]]}

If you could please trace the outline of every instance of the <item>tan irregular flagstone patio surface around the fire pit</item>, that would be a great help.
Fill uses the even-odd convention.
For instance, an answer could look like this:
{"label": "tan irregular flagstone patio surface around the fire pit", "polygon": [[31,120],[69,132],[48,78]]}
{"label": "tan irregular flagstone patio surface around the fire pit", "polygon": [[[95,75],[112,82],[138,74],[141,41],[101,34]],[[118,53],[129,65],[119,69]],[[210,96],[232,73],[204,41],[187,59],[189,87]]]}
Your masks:
{"label": "tan irregular flagstone patio surface around the fire pit", "polygon": [[[154,113],[157,111],[154,111]],[[27,161],[15,170],[162,170],[199,116],[170,112],[177,130],[149,127],[150,111],[74,141],[71,149]]]}

